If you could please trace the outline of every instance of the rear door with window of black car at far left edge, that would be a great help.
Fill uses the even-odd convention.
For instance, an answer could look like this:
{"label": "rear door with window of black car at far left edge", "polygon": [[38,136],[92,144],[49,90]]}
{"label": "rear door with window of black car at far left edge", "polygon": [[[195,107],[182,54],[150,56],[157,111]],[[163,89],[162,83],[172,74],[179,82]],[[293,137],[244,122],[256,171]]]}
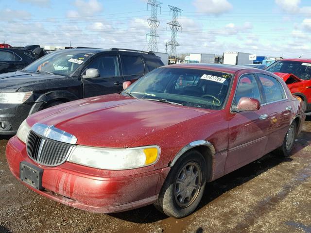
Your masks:
{"label": "rear door with window of black car at far left edge", "polygon": [[21,57],[11,51],[0,50],[0,73],[13,72],[23,67],[18,67]]}

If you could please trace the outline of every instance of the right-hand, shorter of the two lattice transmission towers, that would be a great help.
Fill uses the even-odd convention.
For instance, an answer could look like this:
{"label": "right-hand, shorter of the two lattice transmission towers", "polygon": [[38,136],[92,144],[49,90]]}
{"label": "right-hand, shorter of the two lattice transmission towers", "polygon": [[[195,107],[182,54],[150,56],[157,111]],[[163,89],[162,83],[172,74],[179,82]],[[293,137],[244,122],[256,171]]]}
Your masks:
{"label": "right-hand, shorter of the two lattice transmission towers", "polygon": [[180,46],[180,44],[178,44],[177,42],[177,32],[178,30],[181,28],[181,25],[178,23],[177,19],[178,19],[178,14],[179,14],[179,18],[182,12],[182,9],[175,7],[175,6],[171,6],[170,7],[170,14],[172,11],[172,15],[173,15],[173,20],[169,23],[167,23],[168,25],[170,25],[170,29],[172,31],[172,37],[171,37],[171,41],[167,42],[168,45],[171,46],[171,50],[170,50],[170,56],[173,58],[176,58],[177,53],[176,53],[176,46]]}

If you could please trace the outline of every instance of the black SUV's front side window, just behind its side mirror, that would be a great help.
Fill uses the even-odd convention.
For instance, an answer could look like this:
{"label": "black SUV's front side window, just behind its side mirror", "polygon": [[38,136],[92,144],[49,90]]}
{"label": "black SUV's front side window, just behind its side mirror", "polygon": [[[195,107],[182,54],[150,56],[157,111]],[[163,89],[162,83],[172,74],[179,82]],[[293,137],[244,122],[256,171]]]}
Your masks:
{"label": "black SUV's front side window, just behind its side mirror", "polygon": [[87,68],[98,69],[101,78],[119,76],[119,65],[117,56],[101,56],[95,58]]}

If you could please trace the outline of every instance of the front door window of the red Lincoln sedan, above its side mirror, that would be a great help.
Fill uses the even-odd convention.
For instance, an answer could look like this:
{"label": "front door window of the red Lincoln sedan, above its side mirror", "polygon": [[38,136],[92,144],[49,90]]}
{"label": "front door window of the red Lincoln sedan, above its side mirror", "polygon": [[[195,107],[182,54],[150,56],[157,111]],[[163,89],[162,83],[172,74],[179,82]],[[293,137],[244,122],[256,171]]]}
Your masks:
{"label": "front door window of the red Lincoln sedan, above its side mirror", "polygon": [[243,75],[238,83],[233,105],[236,106],[242,97],[250,97],[261,102],[259,87],[253,74]]}

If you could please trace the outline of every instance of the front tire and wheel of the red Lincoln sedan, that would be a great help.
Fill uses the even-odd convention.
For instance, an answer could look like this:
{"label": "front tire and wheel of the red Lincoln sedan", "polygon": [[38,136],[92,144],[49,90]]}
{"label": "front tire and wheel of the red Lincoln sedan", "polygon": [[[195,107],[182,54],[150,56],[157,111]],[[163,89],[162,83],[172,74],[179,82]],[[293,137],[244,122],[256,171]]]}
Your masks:
{"label": "front tire and wheel of the red Lincoln sedan", "polygon": [[[176,218],[190,215],[202,199],[206,176],[202,154],[197,150],[187,151],[170,170],[154,203],[155,208]],[[177,182],[178,177],[181,182]],[[187,192],[181,191],[185,188]]]}

